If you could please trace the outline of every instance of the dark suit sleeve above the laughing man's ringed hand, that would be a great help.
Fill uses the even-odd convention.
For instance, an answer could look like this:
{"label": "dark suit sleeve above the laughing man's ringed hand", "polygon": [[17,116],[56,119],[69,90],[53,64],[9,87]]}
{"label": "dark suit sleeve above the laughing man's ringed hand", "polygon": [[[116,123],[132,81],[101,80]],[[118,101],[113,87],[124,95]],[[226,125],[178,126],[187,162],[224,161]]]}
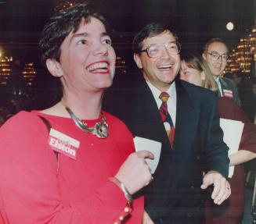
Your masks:
{"label": "dark suit sleeve above the laughing man's ringed hand", "polygon": [[212,98],[211,102],[213,103],[207,132],[206,171],[215,170],[227,178],[229,174],[229,148],[223,141],[216,98]]}

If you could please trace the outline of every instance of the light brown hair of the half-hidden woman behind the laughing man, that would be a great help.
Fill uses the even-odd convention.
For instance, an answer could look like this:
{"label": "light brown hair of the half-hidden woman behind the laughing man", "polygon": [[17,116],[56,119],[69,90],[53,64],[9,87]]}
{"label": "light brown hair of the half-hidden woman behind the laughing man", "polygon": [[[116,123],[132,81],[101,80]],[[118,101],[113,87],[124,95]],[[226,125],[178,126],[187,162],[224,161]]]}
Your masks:
{"label": "light brown hair of the half-hidden woman behind the laughing man", "polygon": [[217,84],[211,75],[211,70],[207,66],[207,62],[205,62],[201,56],[189,54],[185,55],[182,60],[186,62],[186,66],[188,66],[189,68],[197,69],[198,71],[200,71],[200,73],[204,72],[205,79],[202,80],[204,88],[211,91],[218,90]]}

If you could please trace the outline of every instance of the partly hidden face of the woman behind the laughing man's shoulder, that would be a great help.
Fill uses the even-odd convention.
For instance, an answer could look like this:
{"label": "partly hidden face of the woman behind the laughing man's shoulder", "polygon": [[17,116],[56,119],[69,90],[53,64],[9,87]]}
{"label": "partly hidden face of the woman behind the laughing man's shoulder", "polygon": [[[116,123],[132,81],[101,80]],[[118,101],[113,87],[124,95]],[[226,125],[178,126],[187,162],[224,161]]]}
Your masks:
{"label": "partly hidden face of the woman behind the laughing man's shoulder", "polygon": [[179,77],[181,80],[185,80],[190,84],[197,86],[203,86],[203,80],[205,79],[204,72],[200,72],[197,69],[189,68],[186,62],[182,60],[181,68],[179,70]]}

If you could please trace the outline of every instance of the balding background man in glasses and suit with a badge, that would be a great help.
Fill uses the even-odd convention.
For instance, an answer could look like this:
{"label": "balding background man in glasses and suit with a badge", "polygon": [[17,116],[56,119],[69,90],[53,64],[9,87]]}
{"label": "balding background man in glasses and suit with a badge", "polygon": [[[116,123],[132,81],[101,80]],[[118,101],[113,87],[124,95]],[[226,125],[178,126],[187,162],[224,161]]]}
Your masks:
{"label": "balding background man in glasses and suit with a badge", "polygon": [[211,74],[218,86],[218,97],[233,98],[237,105],[241,105],[236,84],[229,78],[222,77],[222,72],[228,62],[228,47],[220,38],[212,38],[204,45],[203,58],[211,69]]}

